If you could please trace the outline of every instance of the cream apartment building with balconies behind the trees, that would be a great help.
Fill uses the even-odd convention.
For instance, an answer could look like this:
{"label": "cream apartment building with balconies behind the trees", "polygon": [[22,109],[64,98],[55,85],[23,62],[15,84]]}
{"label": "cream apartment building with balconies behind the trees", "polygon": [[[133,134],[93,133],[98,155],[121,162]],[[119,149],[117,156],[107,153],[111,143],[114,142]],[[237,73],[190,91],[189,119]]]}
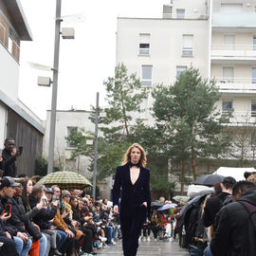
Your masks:
{"label": "cream apartment building with balconies behind the trees", "polygon": [[[229,132],[239,135],[250,128],[247,148],[237,148],[237,157],[246,153],[247,159],[254,159],[255,0],[173,0],[163,7],[160,18],[119,17],[116,63],[136,72],[142,85],[149,87],[174,83],[191,65],[203,77],[214,78],[221,93],[218,110],[223,114],[233,110]],[[144,106],[149,109],[151,105],[149,97]],[[149,110],[144,115],[149,123],[154,122]],[[215,167],[204,168],[210,172]]]}

